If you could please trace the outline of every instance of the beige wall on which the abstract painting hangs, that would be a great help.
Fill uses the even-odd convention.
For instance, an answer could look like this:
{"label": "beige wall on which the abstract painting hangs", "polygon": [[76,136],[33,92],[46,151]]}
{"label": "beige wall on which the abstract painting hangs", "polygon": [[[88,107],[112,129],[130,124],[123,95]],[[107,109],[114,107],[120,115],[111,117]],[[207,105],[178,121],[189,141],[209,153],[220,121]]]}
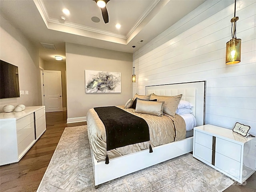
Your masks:
{"label": "beige wall on which the abstract painting hangs", "polygon": [[[121,93],[85,93],[85,70],[121,72]],[[124,105],[132,98],[132,54],[66,43],[68,122],[86,120],[90,108]]]}

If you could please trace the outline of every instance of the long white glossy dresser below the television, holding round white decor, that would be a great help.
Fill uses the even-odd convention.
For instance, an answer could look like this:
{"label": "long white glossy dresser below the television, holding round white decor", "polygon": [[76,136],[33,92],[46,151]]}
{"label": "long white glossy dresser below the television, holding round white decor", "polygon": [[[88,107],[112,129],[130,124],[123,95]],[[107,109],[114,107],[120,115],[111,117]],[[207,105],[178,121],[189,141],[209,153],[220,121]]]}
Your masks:
{"label": "long white glossy dresser below the television, holding round white decor", "polygon": [[44,106],[0,113],[0,165],[18,162],[45,131]]}

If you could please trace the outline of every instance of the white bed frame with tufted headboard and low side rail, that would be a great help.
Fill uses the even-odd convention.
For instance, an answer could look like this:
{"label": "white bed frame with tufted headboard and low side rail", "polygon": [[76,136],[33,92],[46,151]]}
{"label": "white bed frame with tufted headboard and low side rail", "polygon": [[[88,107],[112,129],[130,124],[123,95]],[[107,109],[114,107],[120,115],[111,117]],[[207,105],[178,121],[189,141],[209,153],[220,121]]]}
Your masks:
{"label": "white bed frame with tufted headboard and low side rail", "polygon": [[[196,117],[197,126],[205,124],[205,92],[206,81],[146,86],[146,94],[155,93],[166,96],[183,94],[182,100],[187,100],[194,106],[192,111]],[[156,146],[153,148],[153,153],[149,153],[147,149],[110,159],[109,164],[105,164],[105,161],[97,162],[91,150],[95,188],[97,189],[99,184],[192,152],[192,150],[193,137],[189,137]]]}

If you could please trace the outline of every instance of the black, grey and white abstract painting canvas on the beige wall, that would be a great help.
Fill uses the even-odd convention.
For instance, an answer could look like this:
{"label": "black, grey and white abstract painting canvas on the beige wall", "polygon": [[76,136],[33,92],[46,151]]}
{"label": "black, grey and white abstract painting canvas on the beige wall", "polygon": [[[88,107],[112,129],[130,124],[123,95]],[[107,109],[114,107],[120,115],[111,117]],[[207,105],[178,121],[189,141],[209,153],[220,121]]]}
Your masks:
{"label": "black, grey and white abstract painting canvas on the beige wall", "polygon": [[120,93],[121,73],[85,70],[86,93]]}

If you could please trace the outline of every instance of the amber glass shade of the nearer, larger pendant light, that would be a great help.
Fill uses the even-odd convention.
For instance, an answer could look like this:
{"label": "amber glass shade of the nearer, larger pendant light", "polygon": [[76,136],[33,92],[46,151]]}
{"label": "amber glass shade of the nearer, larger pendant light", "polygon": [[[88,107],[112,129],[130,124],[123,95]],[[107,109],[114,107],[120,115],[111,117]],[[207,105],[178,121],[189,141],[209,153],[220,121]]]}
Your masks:
{"label": "amber glass shade of the nearer, larger pendant light", "polygon": [[226,43],[226,64],[241,62],[241,39],[233,38]]}

